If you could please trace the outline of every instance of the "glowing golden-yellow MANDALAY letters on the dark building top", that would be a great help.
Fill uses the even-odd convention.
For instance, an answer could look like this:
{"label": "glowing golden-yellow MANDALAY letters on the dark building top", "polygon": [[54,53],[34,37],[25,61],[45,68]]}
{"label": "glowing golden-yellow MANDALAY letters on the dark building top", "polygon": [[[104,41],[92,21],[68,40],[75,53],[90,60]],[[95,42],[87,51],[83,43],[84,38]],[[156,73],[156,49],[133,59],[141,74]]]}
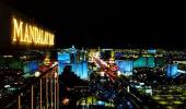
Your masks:
{"label": "glowing golden-yellow MANDALAY letters on the dark building top", "polygon": [[12,43],[54,46],[54,34],[15,17],[12,19]]}

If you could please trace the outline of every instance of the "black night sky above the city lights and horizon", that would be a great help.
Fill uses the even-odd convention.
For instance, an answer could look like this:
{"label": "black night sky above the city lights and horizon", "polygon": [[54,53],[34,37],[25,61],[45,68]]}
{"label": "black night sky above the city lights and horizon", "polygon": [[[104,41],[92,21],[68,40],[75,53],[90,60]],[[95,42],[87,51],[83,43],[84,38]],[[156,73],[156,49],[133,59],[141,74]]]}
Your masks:
{"label": "black night sky above the city lights and horizon", "polygon": [[185,7],[121,0],[59,1],[4,0],[55,31],[57,47],[186,47]]}

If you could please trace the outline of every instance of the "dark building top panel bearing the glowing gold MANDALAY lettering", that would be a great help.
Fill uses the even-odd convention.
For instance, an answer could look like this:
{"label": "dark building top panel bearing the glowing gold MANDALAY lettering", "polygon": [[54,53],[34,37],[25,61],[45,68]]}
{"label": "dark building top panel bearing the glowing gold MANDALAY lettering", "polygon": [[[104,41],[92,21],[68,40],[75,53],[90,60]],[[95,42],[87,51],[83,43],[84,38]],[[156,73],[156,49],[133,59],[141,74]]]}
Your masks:
{"label": "dark building top panel bearing the glowing gold MANDALAY lettering", "polygon": [[43,49],[55,46],[55,34],[33,17],[0,3],[0,50]]}

